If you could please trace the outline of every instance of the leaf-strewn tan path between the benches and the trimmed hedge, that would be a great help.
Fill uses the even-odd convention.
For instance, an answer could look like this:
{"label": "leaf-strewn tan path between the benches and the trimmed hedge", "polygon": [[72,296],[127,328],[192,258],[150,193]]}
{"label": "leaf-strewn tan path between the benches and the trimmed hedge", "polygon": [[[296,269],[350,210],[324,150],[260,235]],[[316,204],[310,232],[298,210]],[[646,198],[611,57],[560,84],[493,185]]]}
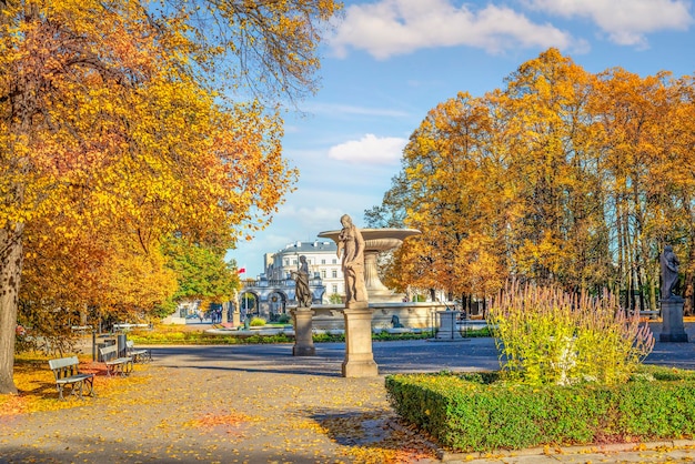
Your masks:
{"label": "leaf-strewn tan path between the benches and the trimmed hedge", "polygon": [[[282,360],[254,361],[236,349],[155,349],[154,362],[135,371],[138,381],[125,397],[88,397],[74,408],[2,420],[0,462],[384,463],[434,457],[426,443],[397,427],[383,376],[343,379],[340,363],[335,373],[282,372]],[[239,356],[207,354],[220,351]],[[403,450],[404,443],[414,451]]]}

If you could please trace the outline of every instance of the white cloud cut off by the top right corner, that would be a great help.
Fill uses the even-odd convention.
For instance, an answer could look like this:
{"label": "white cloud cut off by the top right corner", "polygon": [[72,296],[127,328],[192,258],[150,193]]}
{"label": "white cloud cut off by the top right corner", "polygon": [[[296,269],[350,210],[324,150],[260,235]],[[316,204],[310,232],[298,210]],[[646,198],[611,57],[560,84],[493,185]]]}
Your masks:
{"label": "white cloud cut off by the top right corner", "polygon": [[622,46],[646,46],[645,33],[693,24],[684,0],[526,0],[530,8],[564,18],[590,18]]}

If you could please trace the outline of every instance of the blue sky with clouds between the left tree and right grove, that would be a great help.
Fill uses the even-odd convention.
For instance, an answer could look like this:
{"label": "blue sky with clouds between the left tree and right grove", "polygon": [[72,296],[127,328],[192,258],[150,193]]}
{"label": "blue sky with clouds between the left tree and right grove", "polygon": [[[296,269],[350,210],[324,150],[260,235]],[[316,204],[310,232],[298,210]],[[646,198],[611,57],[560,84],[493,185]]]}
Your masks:
{"label": "blue sky with clouds between the left tree and right grove", "polygon": [[272,224],[228,258],[243,278],[263,254],[313,241],[381,204],[410,134],[460,91],[504,87],[524,61],[555,47],[590,72],[695,72],[689,0],[344,0],[322,44],[321,89],[285,117],[283,151],[296,190]]}

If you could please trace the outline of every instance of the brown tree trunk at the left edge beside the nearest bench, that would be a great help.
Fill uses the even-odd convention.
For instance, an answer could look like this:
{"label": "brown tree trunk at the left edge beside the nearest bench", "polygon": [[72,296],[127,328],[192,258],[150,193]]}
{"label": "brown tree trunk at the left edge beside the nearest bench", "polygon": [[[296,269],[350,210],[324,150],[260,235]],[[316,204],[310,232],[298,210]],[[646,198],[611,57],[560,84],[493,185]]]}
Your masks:
{"label": "brown tree trunk at the left edge beside the nearest bench", "polygon": [[0,230],[0,394],[17,393],[14,337],[22,273],[23,224]]}

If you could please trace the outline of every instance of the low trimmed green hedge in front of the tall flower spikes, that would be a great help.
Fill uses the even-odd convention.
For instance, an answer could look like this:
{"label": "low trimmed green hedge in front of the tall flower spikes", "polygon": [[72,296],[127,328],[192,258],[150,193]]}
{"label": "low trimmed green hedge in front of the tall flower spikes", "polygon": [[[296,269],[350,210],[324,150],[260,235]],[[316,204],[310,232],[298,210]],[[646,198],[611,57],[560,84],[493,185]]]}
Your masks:
{"label": "low trimmed green hedge in front of the tall flower spikes", "polygon": [[691,438],[695,373],[644,366],[616,386],[531,386],[498,373],[386,376],[406,421],[460,452]]}

